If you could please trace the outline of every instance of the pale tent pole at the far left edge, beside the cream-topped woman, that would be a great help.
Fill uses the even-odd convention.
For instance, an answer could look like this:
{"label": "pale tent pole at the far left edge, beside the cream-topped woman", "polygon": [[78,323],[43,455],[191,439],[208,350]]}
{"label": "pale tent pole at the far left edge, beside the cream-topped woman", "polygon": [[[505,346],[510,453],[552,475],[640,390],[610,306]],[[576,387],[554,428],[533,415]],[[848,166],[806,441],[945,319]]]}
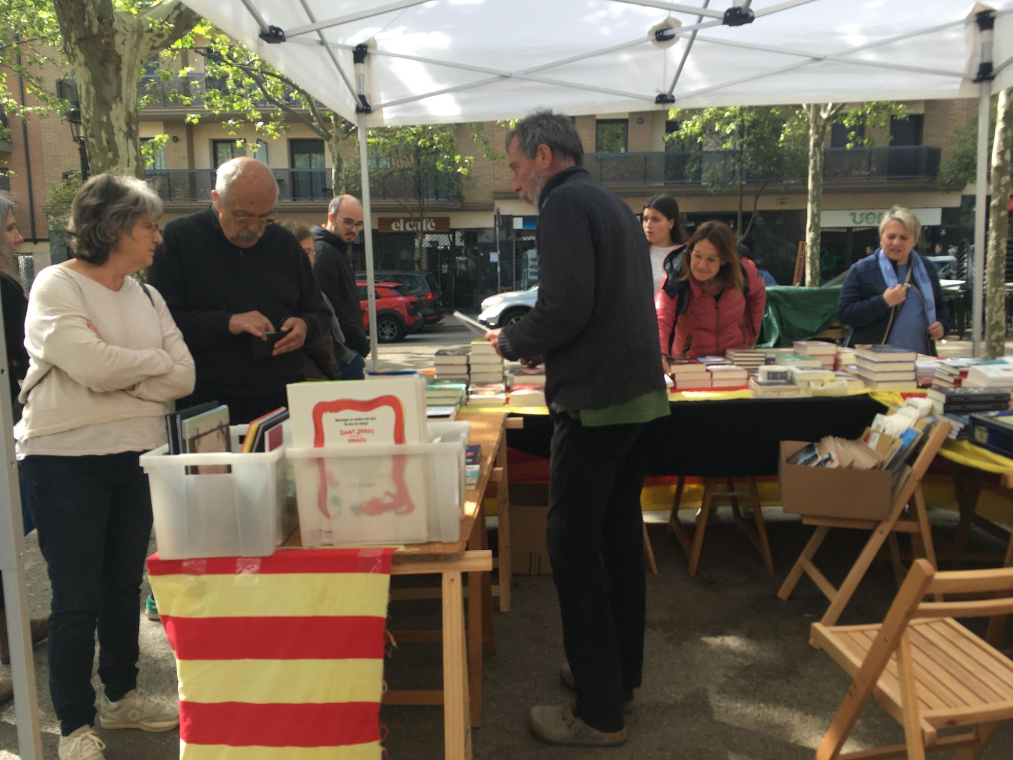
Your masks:
{"label": "pale tent pole at the far left edge, beside the cream-topped woman", "polygon": [[[3,319],[0,318],[0,345],[4,343]],[[42,760],[42,727],[38,723],[38,700],[35,695],[35,664],[31,655],[30,615],[24,575],[24,525],[21,522],[21,489],[17,482],[17,460],[14,458],[14,413],[7,392],[7,359],[0,359],[0,571],[3,572],[3,595],[7,616],[7,641],[10,644],[10,671],[14,685],[14,715],[17,719],[17,747],[23,760]]]}

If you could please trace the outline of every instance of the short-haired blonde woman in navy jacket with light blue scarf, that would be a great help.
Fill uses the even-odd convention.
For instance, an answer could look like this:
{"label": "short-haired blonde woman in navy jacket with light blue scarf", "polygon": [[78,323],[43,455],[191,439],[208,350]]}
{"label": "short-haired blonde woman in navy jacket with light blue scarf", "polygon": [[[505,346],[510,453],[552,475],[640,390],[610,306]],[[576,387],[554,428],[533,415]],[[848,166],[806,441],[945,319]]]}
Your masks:
{"label": "short-haired blonde woman in navy jacket with light blue scarf", "polygon": [[935,356],[949,309],[931,261],[913,250],[922,223],[894,206],[879,223],[879,248],[852,265],[841,287],[837,318],[851,330],[846,346],[889,344]]}

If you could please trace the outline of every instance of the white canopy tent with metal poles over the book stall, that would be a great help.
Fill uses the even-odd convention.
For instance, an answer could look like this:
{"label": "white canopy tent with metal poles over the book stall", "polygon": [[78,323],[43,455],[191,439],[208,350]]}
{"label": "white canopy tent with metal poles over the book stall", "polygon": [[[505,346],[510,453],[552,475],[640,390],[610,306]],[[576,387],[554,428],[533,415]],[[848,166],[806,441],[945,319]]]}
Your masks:
{"label": "white canopy tent with metal poles over the book stall", "polygon": [[[992,3],[994,13],[982,24],[986,30],[975,16],[986,6],[971,0],[185,2],[357,122],[361,138],[370,126],[509,119],[539,107],[583,115],[979,98],[973,264],[979,351],[989,96],[1013,84],[1013,0]],[[659,24],[669,30],[655,33]],[[365,139],[360,151],[370,220]],[[369,233],[365,240],[370,323],[375,324]],[[375,363],[375,330],[372,339]],[[9,424],[6,406],[0,400]],[[16,505],[16,486],[9,482],[16,472],[13,455],[9,442],[4,446],[8,467],[0,476],[0,492],[9,492],[10,504]],[[19,633],[27,631],[26,616],[20,615],[20,515],[8,512],[5,527],[12,530],[9,540],[0,539],[0,568],[8,591],[12,655],[19,661],[14,667],[15,689],[20,689],[18,737],[22,756],[33,759],[41,757],[34,690],[30,659],[19,640]]]}

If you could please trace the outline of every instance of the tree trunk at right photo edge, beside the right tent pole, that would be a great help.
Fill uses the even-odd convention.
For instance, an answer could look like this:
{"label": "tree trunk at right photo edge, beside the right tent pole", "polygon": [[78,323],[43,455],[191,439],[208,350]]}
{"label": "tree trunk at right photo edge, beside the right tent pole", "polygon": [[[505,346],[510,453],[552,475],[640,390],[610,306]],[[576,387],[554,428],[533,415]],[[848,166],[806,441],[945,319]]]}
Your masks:
{"label": "tree trunk at right photo edge, beside the right tent pole", "polygon": [[999,93],[996,138],[992,146],[989,247],[985,263],[985,355],[1006,352],[1006,240],[1009,236],[1010,146],[1013,139],[1013,88]]}

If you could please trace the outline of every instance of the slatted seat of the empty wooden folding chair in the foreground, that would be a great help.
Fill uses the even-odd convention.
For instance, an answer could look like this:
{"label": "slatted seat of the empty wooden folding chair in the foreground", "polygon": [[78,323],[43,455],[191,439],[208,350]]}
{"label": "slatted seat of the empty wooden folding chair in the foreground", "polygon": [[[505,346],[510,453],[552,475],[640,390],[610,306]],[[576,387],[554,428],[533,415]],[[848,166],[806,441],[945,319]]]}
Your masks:
{"label": "slatted seat of the empty wooden folding chair in the foreground", "polygon": [[[812,636],[854,677],[879,628],[879,624],[828,627],[815,623]],[[938,729],[980,723],[983,710],[994,720],[1013,717],[1013,662],[1009,658],[951,617],[915,620],[908,630],[926,748],[935,744]],[[883,669],[875,695],[890,714],[904,720],[895,661]]]}

